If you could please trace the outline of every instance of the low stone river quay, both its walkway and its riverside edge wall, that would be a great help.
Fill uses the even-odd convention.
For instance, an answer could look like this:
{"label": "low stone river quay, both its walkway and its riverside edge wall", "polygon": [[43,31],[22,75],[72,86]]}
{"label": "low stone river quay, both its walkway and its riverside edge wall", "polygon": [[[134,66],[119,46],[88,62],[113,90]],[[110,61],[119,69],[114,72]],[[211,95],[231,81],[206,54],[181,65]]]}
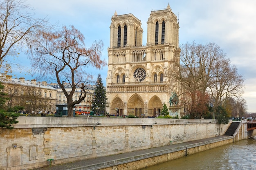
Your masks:
{"label": "low stone river quay, both its walkway and its riverside edge wall", "polygon": [[157,148],[98,157],[37,168],[35,170],[135,170],[170,161],[233,142],[233,136],[218,136]]}

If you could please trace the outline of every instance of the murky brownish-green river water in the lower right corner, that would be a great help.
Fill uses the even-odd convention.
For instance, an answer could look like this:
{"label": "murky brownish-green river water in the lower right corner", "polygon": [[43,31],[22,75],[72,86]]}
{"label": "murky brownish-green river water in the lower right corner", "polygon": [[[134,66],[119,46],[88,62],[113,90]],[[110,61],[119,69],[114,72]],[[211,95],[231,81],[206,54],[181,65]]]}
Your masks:
{"label": "murky brownish-green river water in the lower right corner", "polygon": [[256,137],[142,170],[256,170]]}

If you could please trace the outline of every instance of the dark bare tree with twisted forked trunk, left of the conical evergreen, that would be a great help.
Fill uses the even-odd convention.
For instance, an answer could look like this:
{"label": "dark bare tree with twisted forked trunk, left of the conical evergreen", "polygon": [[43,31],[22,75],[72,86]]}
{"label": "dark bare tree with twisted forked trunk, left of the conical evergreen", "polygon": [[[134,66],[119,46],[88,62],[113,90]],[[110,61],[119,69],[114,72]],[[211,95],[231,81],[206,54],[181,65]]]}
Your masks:
{"label": "dark bare tree with twisted forked trunk, left of the conical evergreen", "polygon": [[[73,117],[73,107],[86,97],[85,85],[92,79],[86,68],[102,68],[106,66],[101,60],[103,42],[94,42],[88,49],[85,48],[83,34],[70,26],[63,26],[58,31],[41,31],[37,34],[36,46],[31,47],[30,56],[34,71],[41,76],[53,75],[67,97],[68,117]],[[69,83],[71,91],[66,91],[64,83]],[[80,96],[77,101],[72,97],[79,88]]]}

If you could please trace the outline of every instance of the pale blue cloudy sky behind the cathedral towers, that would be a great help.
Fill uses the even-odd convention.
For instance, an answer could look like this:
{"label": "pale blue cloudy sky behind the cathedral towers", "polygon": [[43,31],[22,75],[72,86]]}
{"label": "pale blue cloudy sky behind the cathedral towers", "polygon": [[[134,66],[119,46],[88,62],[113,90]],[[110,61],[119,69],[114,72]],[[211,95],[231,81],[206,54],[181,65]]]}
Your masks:
{"label": "pale blue cloudy sky behind the cathedral towers", "polygon": [[[180,44],[195,41],[198,44],[216,43],[238,68],[245,79],[243,98],[247,112],[256,112],[256,0],[27,0],[35,16],[49,19],[51,24],[74,25],[90,47],[102,40],[102,59],[108,62],[111,17],[132,13],[141,20],[143,45],[147,39],[147,21],[152,10],[170,5],[180,23]],[[34,79],[26,71],[30,68],[26,56],[20,56],[23,69],[13,71],[17,77]],[[24,62],[27,61],[27,62]],[[101,74],[106,84],[108,68],[90,69],[95,79]]]}

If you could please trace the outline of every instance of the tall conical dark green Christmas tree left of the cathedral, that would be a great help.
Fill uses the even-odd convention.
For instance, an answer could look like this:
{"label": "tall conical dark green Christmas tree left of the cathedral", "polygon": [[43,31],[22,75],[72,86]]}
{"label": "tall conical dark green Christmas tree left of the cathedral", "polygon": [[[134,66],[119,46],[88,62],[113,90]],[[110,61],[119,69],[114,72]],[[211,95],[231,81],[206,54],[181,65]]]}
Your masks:
{"label": "tall conical dark green Christmas tree left of the cathedral", "polygon": [[101,75],[98,75],[94,90],[94,98],[92,100],[92,111],[98,114],[106,115],[106,88],[103,86]]}

